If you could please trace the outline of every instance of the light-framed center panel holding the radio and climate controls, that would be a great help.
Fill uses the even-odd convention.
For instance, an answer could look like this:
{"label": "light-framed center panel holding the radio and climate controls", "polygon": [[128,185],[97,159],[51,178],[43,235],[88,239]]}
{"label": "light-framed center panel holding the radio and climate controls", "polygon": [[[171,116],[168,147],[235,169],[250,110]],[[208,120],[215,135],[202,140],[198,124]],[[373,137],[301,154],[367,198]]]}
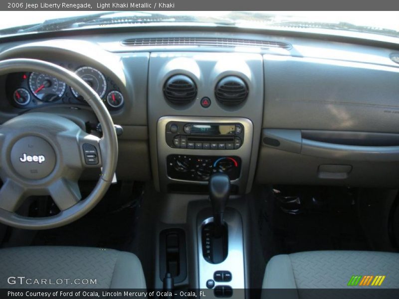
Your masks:
{"label": "light-framed center panel holding the radio and climate controls", "polygon": [[245,190],[252,149],[252,122],[246,118],[159,119],[157,148],[161,190],[202,185],[212,173],[230,177],[232,193]]}

